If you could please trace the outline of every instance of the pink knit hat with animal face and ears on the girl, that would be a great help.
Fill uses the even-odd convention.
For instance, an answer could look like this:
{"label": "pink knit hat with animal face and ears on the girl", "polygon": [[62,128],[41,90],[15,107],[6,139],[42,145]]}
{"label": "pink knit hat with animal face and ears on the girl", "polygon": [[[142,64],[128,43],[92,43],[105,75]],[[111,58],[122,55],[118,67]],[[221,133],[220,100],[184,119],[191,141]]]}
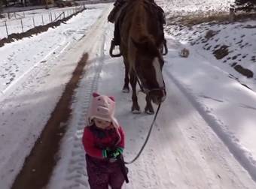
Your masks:
{"label": "pink knit hat with animal face and ears on the girl", "polygon": [[93,118],[111,121],[115,128],[119,127],[117,119],[114,118],[115,102],[113,97],[93,93],[89,112],[87,113],[88,124],[93,124]]}

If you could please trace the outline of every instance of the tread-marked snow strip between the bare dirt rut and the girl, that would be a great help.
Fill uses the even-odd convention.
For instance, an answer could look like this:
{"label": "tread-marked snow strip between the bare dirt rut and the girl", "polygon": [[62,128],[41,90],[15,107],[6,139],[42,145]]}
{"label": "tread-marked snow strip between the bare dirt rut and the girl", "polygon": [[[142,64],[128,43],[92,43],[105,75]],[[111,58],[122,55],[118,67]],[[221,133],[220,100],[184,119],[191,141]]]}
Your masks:
{"label": "tread-marked snow strip between the bare dirt rut and the girl", "polygon": [[[62,146],[62,160],[59,160],[55,172],[62,169],[62,175],[53,173],[48,188],[89,188],[87,183],[87,172],[85,169],[85,152],[81,144],[81,137],[84,132],[85,115],[90,104],[90,98],[93,91],[96,91],[99,82],[100,72],[104,62],[105,51],[105,30],[107,28],[106,17],[111,6],[105,8],[102,17],[96,21],[89,33],[80,43],[87,45],[86,51],[89,52],[89,61],[85,68],[84,78],[78,87],[75,95],[75,102],[72,110],[72,120],[70,120],[69,130],[66,133]],[[82,105],[81,105],[82,104]],[[72,151],[69,151],[69,149]],[[62,181],[56,186],[56,180]]]}

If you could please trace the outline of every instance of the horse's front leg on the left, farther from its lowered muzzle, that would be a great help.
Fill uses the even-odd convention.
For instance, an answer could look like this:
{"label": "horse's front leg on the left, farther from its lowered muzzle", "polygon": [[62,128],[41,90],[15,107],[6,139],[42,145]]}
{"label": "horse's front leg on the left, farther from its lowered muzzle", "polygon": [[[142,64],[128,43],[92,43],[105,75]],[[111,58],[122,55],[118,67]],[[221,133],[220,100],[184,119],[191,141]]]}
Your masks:
{"label": "horse's front leg on the left, farther from its lowered muzzle", "polygon": [[132,113],[142,113],[140,108],[139,108],[139,104],[138,104],[138,98],[137,98],[137,94],[136,94],[136,84],[137,84],[137,80],[136,80],[136,75],[133,71],[130,72],[130,83],[133,89],[133,106],[132,106]]}

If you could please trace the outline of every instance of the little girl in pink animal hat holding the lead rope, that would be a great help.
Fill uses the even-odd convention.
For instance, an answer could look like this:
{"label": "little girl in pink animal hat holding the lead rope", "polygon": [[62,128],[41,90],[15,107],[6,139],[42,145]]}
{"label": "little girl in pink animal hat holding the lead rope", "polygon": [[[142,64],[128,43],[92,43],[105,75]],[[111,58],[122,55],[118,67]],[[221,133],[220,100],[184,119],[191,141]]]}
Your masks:
{"label": "little girl in pink animal hat holding the lead rope", "polygon": [[108,189],[108,185],[120,189],[123,185],[118,160],[123,160],[124,133],[114,118],[114,109],[113,97],[93,93],[83,136],[91,189]]}

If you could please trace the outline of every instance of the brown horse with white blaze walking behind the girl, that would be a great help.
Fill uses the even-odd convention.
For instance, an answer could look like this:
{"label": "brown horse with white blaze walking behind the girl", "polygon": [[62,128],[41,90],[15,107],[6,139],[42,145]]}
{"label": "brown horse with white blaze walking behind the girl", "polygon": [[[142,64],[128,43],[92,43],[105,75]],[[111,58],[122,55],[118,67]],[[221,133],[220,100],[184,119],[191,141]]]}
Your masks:
{"label": "brown horse with white blaze walking behind the girl", "polygon": [[140,81],[146,94],[145,112],[154,114],[151,101],[160,104],[166,98],[161,54],[164,36],[157,7],[151,0],[130,0],[119,23],[120,52],[125,65],[123,91],[129,92],[130,81],[133,89],[132,112],[141,113],[136,95],[136,83]]}

